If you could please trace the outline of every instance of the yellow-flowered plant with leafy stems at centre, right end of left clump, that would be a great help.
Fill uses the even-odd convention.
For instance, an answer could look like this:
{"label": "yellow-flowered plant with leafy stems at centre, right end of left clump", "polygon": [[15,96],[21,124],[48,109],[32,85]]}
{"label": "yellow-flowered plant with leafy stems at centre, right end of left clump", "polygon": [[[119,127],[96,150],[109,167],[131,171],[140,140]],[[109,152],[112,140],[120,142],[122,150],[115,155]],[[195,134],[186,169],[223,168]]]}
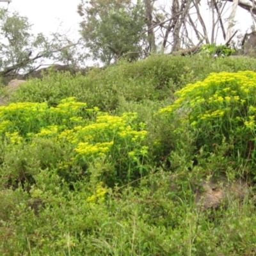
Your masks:
{"label": "yellow-flowered plant with leafy stems at centre, right end of left clump", "polygon": [[106,156],[105,161],[113,165],[113,170],[101,174],[108,177],[111,186],[138,179],[147,173],[145,160],[148,148],[142,145],[147,131],[143,124],[134,122],[136,119],[136,113],[124,113],[122,116],[99,113],[95,122],[79,129],[75,127],[74,136],[69,138],[77,145],[74,163],[89,166],[97,157]]}

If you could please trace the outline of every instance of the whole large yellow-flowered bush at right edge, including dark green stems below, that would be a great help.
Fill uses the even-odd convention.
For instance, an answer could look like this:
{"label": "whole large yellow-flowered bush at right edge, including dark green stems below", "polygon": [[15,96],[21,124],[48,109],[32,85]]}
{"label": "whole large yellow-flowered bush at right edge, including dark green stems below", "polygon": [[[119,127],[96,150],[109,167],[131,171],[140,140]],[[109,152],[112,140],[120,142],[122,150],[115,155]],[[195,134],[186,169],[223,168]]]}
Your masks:
{"label": "whole large yellow-flowered bush at right edge, including dark green stems below", "polygon": [[255,162],[256,73],[211,73],[175,93],[172,105],[160,113],[188,122],[196,131],[196,147],[216,152],[223,141],[232,145],[228,157]]}

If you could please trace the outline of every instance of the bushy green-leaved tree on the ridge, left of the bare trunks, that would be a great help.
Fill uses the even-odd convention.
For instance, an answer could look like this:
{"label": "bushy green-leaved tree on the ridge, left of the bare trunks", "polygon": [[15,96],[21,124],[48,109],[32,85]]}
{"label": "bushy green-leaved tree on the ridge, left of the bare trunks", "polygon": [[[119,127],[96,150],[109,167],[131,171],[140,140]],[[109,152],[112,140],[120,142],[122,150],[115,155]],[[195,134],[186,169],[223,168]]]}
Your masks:
{"label": "bushy green-leaved tree on the ridge, left of the bare trunks", "polygon": [[[138,0],[81,0],[81,35],[88,56],[109,64],[122,56],[137,59],[148,51],[147,26],[143,4]],[[150,48],[152,45],[150,45]]]}

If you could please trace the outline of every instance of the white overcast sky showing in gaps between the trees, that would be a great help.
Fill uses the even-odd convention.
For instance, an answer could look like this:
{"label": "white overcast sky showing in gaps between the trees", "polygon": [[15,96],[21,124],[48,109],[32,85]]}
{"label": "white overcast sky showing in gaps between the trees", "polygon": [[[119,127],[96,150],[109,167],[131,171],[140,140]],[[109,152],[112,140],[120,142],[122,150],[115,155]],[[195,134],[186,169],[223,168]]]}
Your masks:
{"label": "white overcast sky showing in gaps between the trees", "polygon": [[[56,31],[68,31],[68,35],[78,37],[79,22],[81,17],[76,12],[77,5],[81,0],[12,0],[12,3],[1,3],[0,6],[8,6],[8,10],[17,10],[21,15],[28,17],[33,24],[34,33],[54,33]],[[155,5],[170,6],[170,0],[157,0]],[[201,4],[204,4],[202,1]],[[231,3],[227,3],[230,4]],[[211,13],[206,9],[202,13],[204,20],[209,18]],[[169,9],[169,8],[168,8]],[[169,10],[167,10],[169,11]],[[230,10],[227,11],[228,15]],[[241,33],[245,33],[252,24],[250,13],[241,8],[237,8],[237,26]],[[220,31],[221,32],[221,31]]]}

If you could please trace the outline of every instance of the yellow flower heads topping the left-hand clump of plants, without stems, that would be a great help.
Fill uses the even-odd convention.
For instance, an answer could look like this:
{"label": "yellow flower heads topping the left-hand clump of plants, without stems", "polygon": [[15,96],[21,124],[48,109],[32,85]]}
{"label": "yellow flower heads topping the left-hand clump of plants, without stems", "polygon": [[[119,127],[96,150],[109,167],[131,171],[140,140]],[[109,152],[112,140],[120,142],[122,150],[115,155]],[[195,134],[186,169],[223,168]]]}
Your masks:
{"label": "yellow flower heads topping the left-hand clump of plants, without stems", "polygon": [[95,107],[88,112],[93,113],[96,120],[90,120],[90,115],[84,115],[87,110],[86,103],[76,102],[74,97],[61,100],[56,108],[35,102],[10,104],[0,108],[0,134],[5,132],[11,143],[20,143],[22,136],[29,140],[50,137],[71,143],[76,153],[73,160],[102,156],[115,143],[129,145],[131,151],[136,148],[141,150],[140,154],[147,154],[147,148],[140,145],[147,131],[143,130],[143,123],[134,127],[136,113],[110,116]]}

